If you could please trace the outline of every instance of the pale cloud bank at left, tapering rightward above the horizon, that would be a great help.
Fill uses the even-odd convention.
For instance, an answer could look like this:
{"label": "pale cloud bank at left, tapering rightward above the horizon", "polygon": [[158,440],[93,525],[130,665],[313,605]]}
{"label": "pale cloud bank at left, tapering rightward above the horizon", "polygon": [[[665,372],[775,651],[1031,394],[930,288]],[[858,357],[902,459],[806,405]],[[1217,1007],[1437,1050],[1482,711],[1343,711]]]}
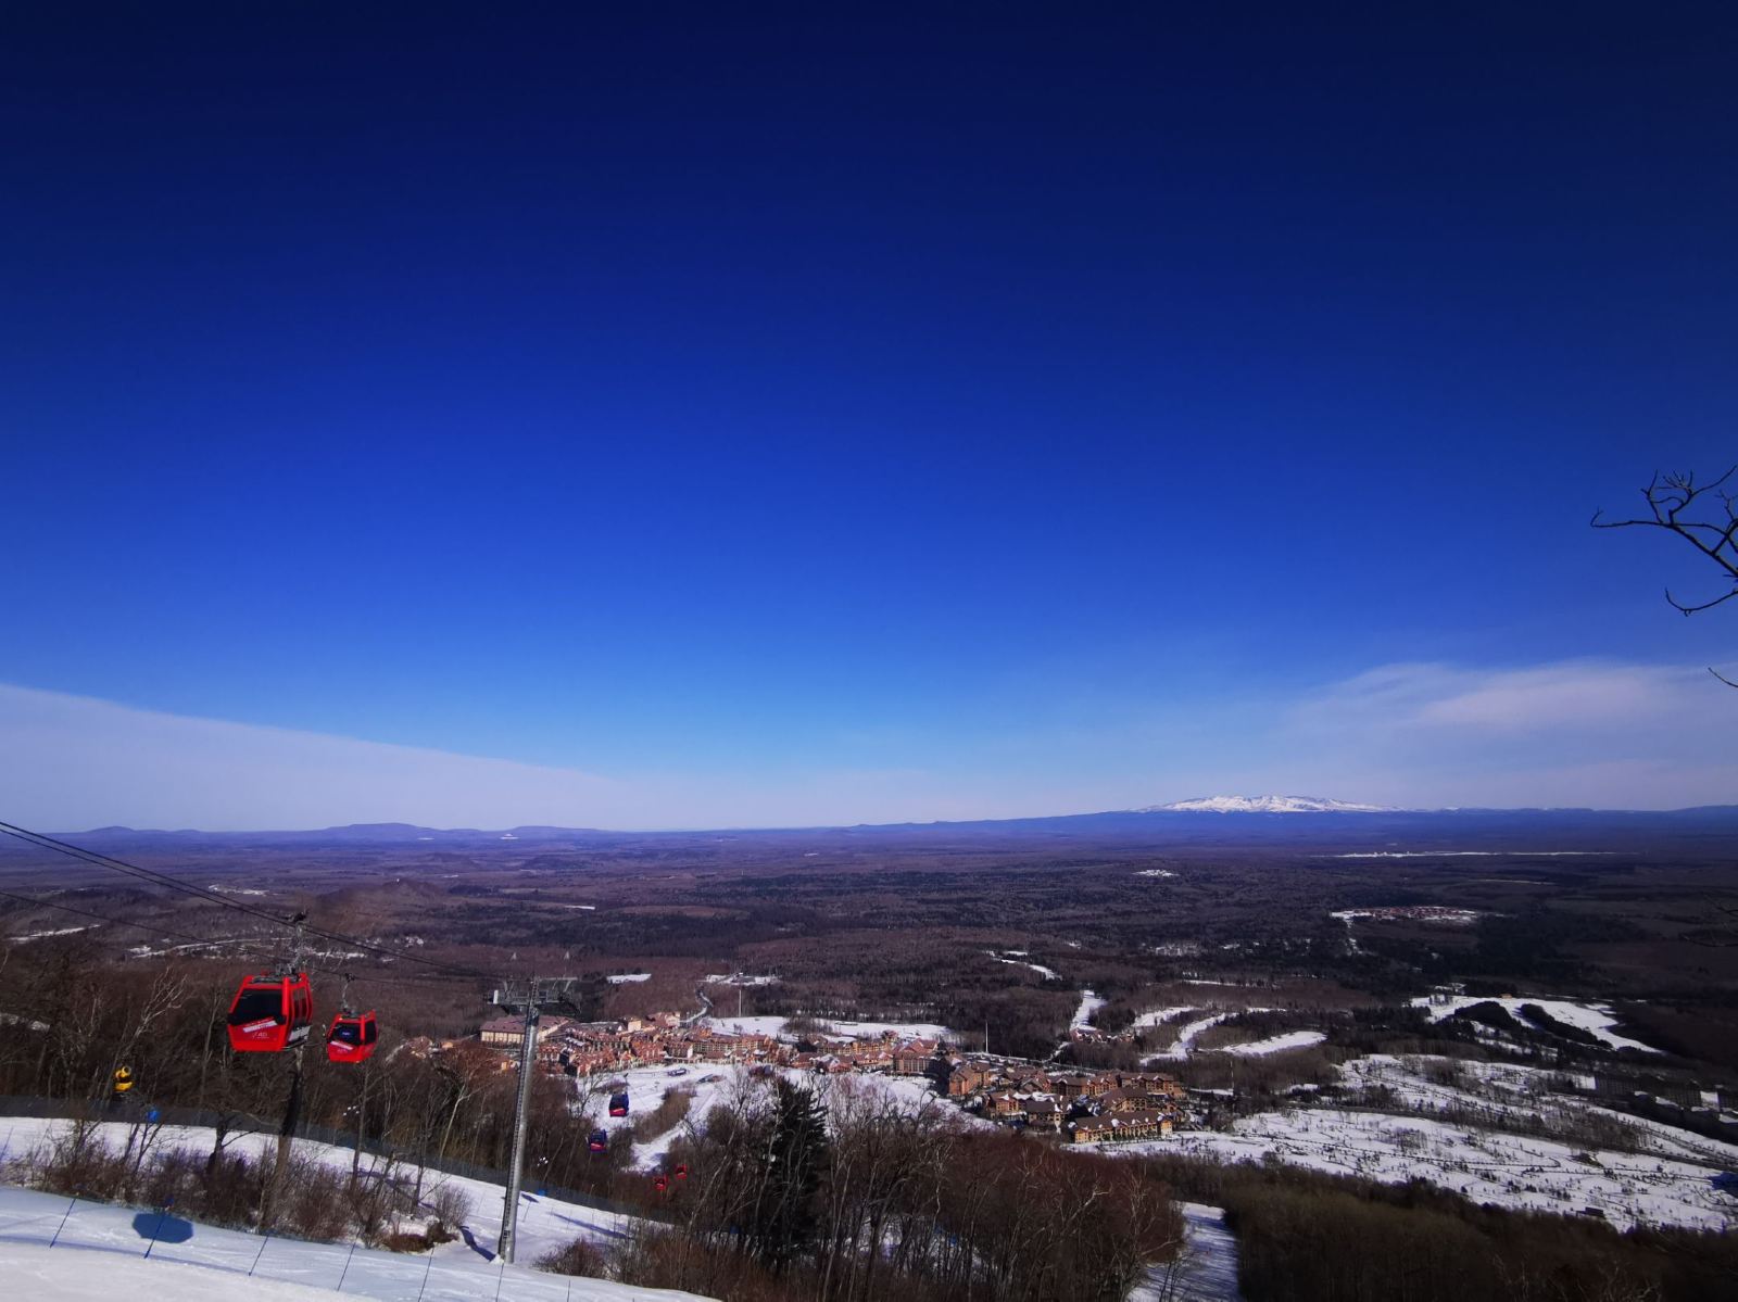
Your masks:
{"label": "pale cloud bank at left, tapering rightward above the horizon", "polygon": [[742,827],[958,819],[1012,812],[932,774],[833,768],[598,775],[320,732],[134,709],[0,683],[0,805],[14,822],[78,829]]}

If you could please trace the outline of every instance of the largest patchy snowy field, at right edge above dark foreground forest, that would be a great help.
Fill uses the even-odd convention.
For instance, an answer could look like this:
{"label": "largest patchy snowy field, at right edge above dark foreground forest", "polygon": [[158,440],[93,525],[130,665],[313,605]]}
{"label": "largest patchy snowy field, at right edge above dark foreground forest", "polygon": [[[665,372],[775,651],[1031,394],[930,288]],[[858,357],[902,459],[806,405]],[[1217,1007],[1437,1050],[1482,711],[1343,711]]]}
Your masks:
{"label": "largest patchy snowy field, at right edge above dark foreground forest", "polygon": [[[1425,1111],[1483,1109],[1491,1126],[1448,1125],[1430,1116],[1312,1109],[1239,1118],[1231,1132],[1189,1132],[1170,1140],[1130,1144],[1119,1153],[1191,1153],[1224,1161],[1279,1161],[1335,1175],[1383,1182],[1423,1179],[1476,1203],[1575,1215],[1597,1210],[1618,1229],[1635,1224],[1724,1231],[1738,1224],[1738,1199],[1714,1187],[1738,1166],[1738,1146],[1702,1139],[1660,1123],[1641,1123],[1576,1099],[1547,1099],[1529,1067],[1460,1064],[1477,1088],[1436,1085],[1422,1073],[1449,1059],[1385,1055],[1345,1064],[1349,1085],[1385,1085],[1401,1106]],[[1585,1144],[1505,1133],[1505,1119],[1580,1111],[1634,1128],[1642,1153],[1589,1149]]]}

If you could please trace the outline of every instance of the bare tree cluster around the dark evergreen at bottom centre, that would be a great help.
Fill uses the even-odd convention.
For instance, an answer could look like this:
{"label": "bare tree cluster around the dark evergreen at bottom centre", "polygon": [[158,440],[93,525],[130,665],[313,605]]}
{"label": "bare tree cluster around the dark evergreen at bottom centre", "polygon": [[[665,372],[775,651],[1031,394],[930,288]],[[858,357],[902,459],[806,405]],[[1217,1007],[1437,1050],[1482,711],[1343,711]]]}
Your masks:
{"label": "bare tree cluster around the dark evergreen at bottom centre", "polygon": [[671,1151],[680,1224],[629,1245],[636,1285],[744,1299],[1121,1299],[1182,1220],[1135,1165],[912,1113],[874,1081],[746,1083]]}

